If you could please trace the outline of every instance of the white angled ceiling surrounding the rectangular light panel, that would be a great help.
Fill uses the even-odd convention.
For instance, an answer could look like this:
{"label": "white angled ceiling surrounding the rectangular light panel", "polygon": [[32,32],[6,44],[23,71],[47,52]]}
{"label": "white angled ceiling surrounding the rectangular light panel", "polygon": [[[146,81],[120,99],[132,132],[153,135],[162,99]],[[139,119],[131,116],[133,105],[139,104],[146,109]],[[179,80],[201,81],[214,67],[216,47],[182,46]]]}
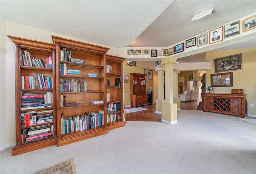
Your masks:
{"label": "white angled ceiling surrounding the rectangular light panel", "polygon": [[[0,0],[1,18],[114,48],[178,44],[254,12],[256,0]],[[222,49],[255,48],[255,40]],[[204,53],[179,62],[192,60],[204,62]]]}

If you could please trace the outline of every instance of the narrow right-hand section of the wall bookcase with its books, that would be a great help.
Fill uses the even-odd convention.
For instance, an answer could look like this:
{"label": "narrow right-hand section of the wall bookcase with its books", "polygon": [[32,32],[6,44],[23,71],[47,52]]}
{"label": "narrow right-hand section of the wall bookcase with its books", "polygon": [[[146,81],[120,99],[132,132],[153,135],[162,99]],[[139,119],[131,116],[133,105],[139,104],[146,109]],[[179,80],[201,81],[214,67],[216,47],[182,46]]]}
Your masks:
{"label": "narrow right-hand section of the wall bookcase with its books", "polygon": [[[117,56],[106,55],[106,113],[107,113],[107,128],[108,130],[122,127],[125,125],[123,121],[123,61],[124,58]],[[118,85],[115,86],[115,82]],[[109,82],[109,83],[108,83]],[[116,109],[109,110],[111,106],[117,106]]]}

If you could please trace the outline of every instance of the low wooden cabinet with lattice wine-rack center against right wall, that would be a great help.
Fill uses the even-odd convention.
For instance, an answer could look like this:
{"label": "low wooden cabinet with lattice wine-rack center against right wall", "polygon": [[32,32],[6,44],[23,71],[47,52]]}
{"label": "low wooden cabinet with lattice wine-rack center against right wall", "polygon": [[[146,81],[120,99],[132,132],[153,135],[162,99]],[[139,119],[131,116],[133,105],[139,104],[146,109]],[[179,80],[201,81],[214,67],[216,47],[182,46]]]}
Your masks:
{"label": "low wooden cabinet with lattice wine-rack center against right wall", "polygon": [[203,111],[230,114],[244,118],[246,116],[246,101],[244,94],[214,94],[204,93]]}

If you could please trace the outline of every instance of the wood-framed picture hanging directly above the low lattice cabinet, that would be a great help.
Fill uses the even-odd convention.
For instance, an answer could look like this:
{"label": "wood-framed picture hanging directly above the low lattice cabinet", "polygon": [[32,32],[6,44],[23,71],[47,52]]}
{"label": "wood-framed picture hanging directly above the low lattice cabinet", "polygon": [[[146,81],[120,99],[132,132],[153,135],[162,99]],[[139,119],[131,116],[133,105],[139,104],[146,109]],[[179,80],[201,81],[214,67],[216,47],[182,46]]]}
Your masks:
{"label": "wood-framed picture hanging directly above the low lattice cabinet", "polygon": [[233,86],[233,72],[211,74],[212,87]]}

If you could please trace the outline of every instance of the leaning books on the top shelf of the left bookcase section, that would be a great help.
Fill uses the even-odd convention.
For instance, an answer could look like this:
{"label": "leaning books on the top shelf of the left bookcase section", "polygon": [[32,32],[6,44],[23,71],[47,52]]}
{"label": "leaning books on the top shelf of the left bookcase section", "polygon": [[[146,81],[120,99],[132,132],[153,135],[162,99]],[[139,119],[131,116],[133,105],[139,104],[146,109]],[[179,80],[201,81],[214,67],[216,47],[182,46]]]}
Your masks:
{"label": "leaning books on the top shelf of the left bookcase section", "polygon": [[20,50],[20,65],[21,66],[34,66],[42,68],[52,68],[52,56],[46,58],[46,64],[40,58],[34,58],[30,52]]}

